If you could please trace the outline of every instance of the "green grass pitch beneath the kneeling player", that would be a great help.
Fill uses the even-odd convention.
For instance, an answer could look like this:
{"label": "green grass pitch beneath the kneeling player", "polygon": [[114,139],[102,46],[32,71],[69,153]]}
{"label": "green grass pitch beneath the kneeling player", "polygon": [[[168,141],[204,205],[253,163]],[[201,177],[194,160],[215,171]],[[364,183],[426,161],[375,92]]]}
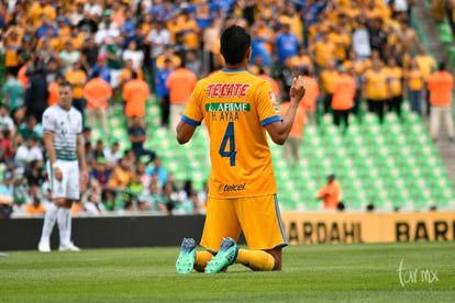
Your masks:
{"label": "green grass pitch beneath the kneeling player", "polygon": [[0,302],[454,302],[454,242],[291,246],[281,272],[179,276],[177,247],[9,251]]}

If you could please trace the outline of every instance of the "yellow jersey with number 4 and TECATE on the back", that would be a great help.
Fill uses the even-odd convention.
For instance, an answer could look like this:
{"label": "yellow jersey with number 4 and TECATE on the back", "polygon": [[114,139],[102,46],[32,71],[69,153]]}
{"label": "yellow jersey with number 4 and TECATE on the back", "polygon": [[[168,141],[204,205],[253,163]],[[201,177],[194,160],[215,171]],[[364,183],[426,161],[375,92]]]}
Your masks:
{"label": "yellow jersey with number 4 and TECATE on the back", "polygon": [[209,197],[277,192],[265,125],[281,121],[268,81],[245,69],[222,70],[196,86],[182,120],[210,134]]}

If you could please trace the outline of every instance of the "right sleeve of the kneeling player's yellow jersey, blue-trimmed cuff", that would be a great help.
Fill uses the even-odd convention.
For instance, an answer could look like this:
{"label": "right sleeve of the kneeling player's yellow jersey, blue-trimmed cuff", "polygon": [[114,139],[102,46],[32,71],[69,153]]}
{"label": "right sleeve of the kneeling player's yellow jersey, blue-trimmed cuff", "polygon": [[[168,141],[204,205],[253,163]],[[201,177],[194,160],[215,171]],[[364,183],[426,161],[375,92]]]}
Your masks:
{"label": "right sleeve of the kneeling player's yellow jersey, blue-trimmed cuff", "polygon": [[282,117],[279,115],[275,93],[267,81],[264,81],[257,88],[256,106],[263,126],[276,121],[282,121]]}

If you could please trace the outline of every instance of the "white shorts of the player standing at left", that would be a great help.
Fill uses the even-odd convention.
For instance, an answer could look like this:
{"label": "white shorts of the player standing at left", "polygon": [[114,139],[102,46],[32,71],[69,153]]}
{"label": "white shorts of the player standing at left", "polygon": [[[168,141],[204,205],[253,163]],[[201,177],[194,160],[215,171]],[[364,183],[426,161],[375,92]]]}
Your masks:
{"label": "white shorts of the player standing at left", "polygon": [[52,199],[79,200],[79,165],[78,161],[57,160],[56,165],[60,168],[63,178],[57,180],[51,162],[47,161],[47,175],[49,176]]}

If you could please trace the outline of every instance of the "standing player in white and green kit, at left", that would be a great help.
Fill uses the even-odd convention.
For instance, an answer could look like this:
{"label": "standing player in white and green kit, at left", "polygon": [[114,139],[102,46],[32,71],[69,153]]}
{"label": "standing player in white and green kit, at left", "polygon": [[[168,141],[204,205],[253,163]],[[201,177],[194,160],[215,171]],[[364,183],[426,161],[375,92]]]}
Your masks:
{"label": "standing player in white and green kit, at left", "polygon": [[[52,199],[46,207],[38,250],[51,251],[49,237],[55,221],[60,236],[59,250],[80,250],[71,239],[71,205],[80,199],[79,180],[87,181],[86,157],[82,145],[82,116],[71,106],[73,86],[58,86],[59,101],[43,113],[44,147],[47,153],[47,172]],[[79,177],[80,168],[80,177]]]}

